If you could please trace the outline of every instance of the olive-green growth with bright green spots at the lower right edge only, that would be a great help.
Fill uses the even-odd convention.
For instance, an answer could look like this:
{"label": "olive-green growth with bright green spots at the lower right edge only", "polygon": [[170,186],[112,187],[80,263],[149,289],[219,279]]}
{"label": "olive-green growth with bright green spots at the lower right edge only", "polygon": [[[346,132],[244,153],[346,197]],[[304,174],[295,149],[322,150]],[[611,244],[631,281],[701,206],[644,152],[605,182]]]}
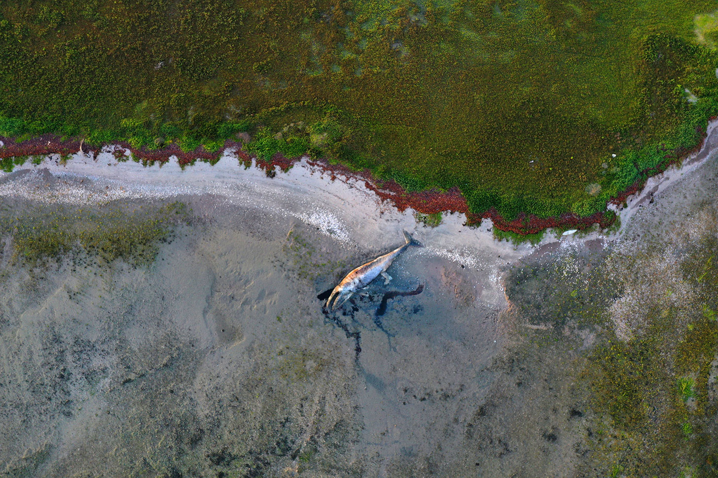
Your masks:
{"label": "olive-green growth with bright green spots at the lower right edge only", "polygon": [[[673,294],[644,296],[642,311],[626,318],[643,324],[636,337],[613,337],[589,357],[584,373],[604,431],[593,446],[630,470],[626,476],[675,476],[679,463],[694,465],[689,476],[711,477],[718,471],[717,404],[709,385],[718,326],[701,304],[718,296],[718,281],[701,278],[718,248],[713,234],[692,245],[679,266],[694,299],[674,306]],[[655,253],[634,266],[649,261],[656,261]]]}

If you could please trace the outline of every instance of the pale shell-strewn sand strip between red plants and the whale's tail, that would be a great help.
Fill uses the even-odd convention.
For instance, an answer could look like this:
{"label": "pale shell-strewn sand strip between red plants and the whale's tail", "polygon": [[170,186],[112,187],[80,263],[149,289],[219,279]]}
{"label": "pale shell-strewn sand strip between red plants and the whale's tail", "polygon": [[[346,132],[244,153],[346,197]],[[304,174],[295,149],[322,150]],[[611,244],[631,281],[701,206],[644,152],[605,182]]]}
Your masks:
{"label": "pale shell-strewn sand strip between red plants and the whale's tail", "polygon": [[[252,210],[259,222],[302,222],[361,259],[396,248],[401,230],[406,229],[417,233],[426,246],[415,251],[416,255],[441,258],[457,270],[480,273],[472,289],[477,299],[497,309],[505,308],[503,270],[535,250],[529,243],[496,240],[490,222],[467,228],[463,214],[445,215],[436,228],[422,227],[411,209],[398,210],[381,200],[362,179],[331,181],[331,173],[314,161],[302,159],[281,179],[268,177],[259,167],[243,170],[236,161],[236,156],[226,154],[214,165],[197,162],[182,169],[177,161],[146,167],[135,161],[117,161],[109,152],[93,159],[80,153],[68,161],[48,157],[40,164],[0,172],[0,197],[80,206],[215,198],[223,207]],[[195,213],[211,217],[213,210]],[[561,238],[561,243],[572,240]]]}

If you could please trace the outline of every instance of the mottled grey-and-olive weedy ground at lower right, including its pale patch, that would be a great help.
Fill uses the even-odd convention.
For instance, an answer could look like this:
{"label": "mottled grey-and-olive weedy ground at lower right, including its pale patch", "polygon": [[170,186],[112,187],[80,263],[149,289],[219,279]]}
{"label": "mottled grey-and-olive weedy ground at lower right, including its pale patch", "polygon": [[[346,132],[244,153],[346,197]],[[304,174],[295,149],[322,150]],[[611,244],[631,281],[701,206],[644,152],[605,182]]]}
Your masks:
{"label": "mottled grey-and-olive weedy ground at lower right, including its pale patch", "polygon": [[[518,433],[505,424],[509,410],[536,400],[518,415],[548,421],[559,441],[576,444],[576,476],[718,476],[718,235],[716,208],[706,204],[676,225],[694,227],[690,238],[642,230],[630,252],[561,251],[510,270],[504,320],[516,318],[521,339],[504,365],[508,380],[486,401],[493,410],[484,406],[472,428],[485,433],[472,449],[487,447],[476,461],[500,450],[488,437]],[[489,415],[497,418],[480,426]]]}

